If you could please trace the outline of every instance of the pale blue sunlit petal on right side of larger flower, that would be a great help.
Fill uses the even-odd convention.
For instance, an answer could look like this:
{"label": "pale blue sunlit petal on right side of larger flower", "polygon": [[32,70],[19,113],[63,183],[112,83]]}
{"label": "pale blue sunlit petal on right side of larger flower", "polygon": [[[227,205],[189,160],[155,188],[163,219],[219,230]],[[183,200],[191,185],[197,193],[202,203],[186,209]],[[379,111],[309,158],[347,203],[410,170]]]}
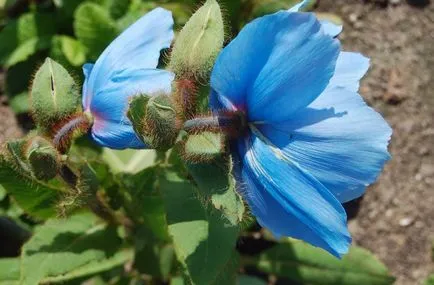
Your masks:
{"label": "pale blue sunlit petal on right side of larger flower", "polygon": [[[345,59],[351,59],[350,64]],[[392,130],[355,89],[368,60],[343,53],[330,86],[288,122],[260,130],[340,202],[360,197],[389,160]],[[359,65],[354,65],[359,63]],[[360,64],[361,63],[361,64]]]}

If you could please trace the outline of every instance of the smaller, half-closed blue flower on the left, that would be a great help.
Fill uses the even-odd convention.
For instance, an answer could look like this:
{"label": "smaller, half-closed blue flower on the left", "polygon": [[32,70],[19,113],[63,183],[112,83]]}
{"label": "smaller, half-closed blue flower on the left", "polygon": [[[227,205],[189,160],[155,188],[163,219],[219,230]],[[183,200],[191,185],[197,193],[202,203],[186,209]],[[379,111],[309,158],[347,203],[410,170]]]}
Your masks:
{"label": "smaller, half-closed blue flower on the left", "polygon": [[83,71],[83,107],[94,118],[93,140],[113,149],[145,148],[126,116],[131,96],[169,93],[174,75],[156,69],[173,40],[172,14],[157,8],[125,30]]}

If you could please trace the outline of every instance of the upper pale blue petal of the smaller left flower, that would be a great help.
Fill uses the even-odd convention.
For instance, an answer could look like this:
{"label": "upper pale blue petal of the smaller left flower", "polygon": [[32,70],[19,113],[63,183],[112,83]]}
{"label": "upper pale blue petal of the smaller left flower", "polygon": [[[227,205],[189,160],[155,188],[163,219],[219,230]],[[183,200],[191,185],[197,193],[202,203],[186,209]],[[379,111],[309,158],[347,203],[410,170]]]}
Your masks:
{"label": "upper pale blue petal of the smaller left flower", "polygon": [[115,74],[126,69],[153,69],[160,51],[173,40],[172,14],[157,8],[143,16],[118,36],[101,54],[87,79],[84,106],[104,88]]}

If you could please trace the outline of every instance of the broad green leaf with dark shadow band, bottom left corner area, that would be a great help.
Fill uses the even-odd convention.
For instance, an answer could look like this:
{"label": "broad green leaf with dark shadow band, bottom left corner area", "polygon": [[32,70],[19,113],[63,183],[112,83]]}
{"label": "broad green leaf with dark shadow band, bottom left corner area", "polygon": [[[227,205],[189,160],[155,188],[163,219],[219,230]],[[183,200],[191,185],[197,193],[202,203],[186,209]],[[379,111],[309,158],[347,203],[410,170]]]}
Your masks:
{"label": "broad green leaf with dark shadow band, bottom left corner area", "polygon": [[[120,244],[116,228],[101,224],[93,214],[49,220],[37,227],[23,246],[20,282],[38,284],[47,278],[77,274],[71,272],[82,270],[85,265],[100,266],[107,259],[115,258]],[[119,262],[108,263],[119,265]]]}

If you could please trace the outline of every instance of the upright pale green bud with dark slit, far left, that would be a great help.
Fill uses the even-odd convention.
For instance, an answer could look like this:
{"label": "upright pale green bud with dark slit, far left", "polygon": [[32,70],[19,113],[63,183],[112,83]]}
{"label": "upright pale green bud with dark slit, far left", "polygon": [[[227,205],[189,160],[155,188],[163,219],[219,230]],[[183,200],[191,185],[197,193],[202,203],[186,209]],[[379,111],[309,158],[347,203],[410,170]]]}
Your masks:
{"label": "upright pale green bud with dark slit, far left", "polygon": [[34,119],[43,130],[81,111],[80,92],[74,79],[50,58],[37,71],[31,96]]}

